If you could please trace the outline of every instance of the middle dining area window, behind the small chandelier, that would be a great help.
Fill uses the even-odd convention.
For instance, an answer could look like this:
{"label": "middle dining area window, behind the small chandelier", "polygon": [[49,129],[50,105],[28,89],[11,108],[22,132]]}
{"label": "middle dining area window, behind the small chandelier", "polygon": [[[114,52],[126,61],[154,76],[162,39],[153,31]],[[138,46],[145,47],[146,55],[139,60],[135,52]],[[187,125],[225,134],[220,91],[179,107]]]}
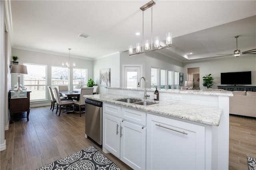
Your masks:
{"label": "middle dining area window, behind the small chandelier", "polygon": [[58,85],[69,85],[68,68],[52,66],[52,88],[58,88]]}

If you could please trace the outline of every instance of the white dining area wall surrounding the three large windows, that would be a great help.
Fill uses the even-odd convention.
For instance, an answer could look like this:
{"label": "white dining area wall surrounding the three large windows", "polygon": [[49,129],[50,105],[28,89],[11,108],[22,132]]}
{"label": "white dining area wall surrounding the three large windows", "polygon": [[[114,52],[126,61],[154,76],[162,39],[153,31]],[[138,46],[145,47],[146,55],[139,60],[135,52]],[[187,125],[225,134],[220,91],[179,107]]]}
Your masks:
{"label": "white dining area wall surrounding the three large windows", "polygon": [[[19,64],[32,63],[32,64],[47,65],[47,86],[51,86],[51,70],[52,70],[51,66],[61,66],[62,62],[65,63],[66,61],[68,61],[68,52],[67,52],[67,56],[64,57],[60,55],[53,55],[53,54],[12,48],[12,55],[17,55],[19,57],[18,59]],[[93,62],[91,60],[73,58],[72,55],[70,54],[70,63],[73,63],[73,62],[76,63],[76,68],[88,69],[88,78],[93,76]],[[12,74],[11,86],[13,87],[14,84],[16,84],[17,82],[18,82],[17,74]],[[23,84],[23,76],[20,76],[20,82],[21,84]],[[48,96],[48,99],[50,100],[50,96]],[[49,102],[50,101],[48,101],[48,103]]]}

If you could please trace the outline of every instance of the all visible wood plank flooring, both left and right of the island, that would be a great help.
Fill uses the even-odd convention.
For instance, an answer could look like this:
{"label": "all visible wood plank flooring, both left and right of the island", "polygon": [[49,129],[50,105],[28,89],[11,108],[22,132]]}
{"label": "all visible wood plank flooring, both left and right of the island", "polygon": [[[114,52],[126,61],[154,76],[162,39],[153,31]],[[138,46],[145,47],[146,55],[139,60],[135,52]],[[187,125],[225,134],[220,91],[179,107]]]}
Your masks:
{"label": "all visible wood plank flooring, both left and right of the island", "polygon": [[[94,145],[84,137],[85,114],[62,113],[50,107],[31,108],[26,118],[10,124],[6,132],[6,150],[0,152],[1,170],[34,170],[64,156]],[[121,169],[128,166],[112,154],[105,154]],[[246,156],[256,158],[256,119],[230,115],[229,169],[247,170]]]}

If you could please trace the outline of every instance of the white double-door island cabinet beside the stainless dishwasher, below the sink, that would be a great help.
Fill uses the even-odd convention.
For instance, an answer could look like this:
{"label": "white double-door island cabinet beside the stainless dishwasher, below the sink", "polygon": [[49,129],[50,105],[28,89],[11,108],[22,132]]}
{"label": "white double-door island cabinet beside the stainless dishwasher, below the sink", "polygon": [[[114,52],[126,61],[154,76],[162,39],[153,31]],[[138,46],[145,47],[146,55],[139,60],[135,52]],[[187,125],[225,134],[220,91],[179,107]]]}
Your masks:
{"label": "white double-door island cabinet beside the stainless dishwasher, below the sink", "polygon": [[133,169],[145,170],[145,125],[146,112],[104,103],[102,150],[111,152]]}

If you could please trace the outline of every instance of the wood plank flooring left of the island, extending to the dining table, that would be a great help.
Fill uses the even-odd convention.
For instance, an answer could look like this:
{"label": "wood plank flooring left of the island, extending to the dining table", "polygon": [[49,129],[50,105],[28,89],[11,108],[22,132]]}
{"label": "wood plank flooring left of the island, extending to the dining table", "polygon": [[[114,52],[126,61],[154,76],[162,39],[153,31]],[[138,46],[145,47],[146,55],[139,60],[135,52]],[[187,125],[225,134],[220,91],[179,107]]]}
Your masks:
{"label": "wood plank flooring left of the island, extending to the dining table", "polygon": [[[29,121],[19,119],[5,131],[6,150],[0,152],[0,170],[34,170],[97,143],[85,138],[85,114],[61,113],[47,107],[30,109]],[[112,154],[105,154],[122,170],[131,170]]]}

